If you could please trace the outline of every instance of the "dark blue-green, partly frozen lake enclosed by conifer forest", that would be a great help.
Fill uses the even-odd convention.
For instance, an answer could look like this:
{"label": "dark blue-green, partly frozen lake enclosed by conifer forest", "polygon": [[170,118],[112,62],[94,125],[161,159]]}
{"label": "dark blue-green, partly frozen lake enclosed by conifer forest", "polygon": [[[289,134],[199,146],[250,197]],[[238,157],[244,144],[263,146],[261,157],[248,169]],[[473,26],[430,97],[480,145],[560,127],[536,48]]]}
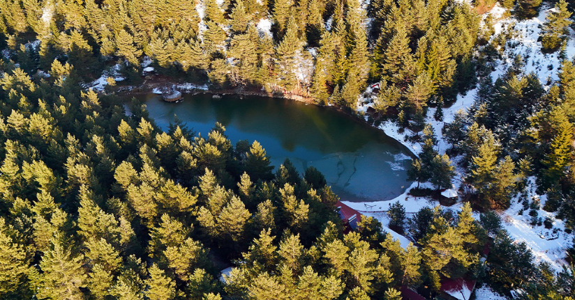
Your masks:
{"label": "dark blue-green, partly frozen lake enclosed by conifer forest", "polygon": [[184,95],[180,103],[163,102],[154,94],[137,97],[163,129],[174,120],[174,114],[202,136],[219,122],[232,143],[241,139],[260,142],[276,168],[286,157],[300,173],[315,166],[341,200],[389,200],[409,184],[405,181],[411,166],[407,148],[333,109],[235,95],[221,99]]}

